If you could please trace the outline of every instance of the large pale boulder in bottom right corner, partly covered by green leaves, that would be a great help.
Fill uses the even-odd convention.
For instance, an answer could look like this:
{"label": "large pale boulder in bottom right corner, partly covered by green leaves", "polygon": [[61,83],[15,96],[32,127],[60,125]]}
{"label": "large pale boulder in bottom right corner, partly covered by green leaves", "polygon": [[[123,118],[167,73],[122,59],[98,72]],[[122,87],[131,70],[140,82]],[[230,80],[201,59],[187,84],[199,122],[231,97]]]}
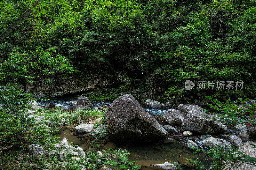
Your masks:
{"label": "large pale boulder in bottom right corner, partly covered by green leaves", "polygon": [[[256,148],[254,148],[251,144],[256,145],[256,142],[248,141],[245,142],[243,146],[241,146],[238,151],[243,152],[245,155],[253,157],[256,159]],[[237,166],[237,167],[236,167]],[[231,170],[255,170],[255,165],[249,165],[246,163],[237,162],[232,166]]]}

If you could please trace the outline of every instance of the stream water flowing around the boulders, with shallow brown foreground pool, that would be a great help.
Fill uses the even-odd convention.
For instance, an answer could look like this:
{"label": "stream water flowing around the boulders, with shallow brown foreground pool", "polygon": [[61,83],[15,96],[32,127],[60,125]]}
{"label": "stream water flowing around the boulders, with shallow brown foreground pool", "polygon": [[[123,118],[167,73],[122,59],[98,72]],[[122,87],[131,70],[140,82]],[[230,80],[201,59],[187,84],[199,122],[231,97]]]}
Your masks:
{"label": "stream water flowing around the boulders, with shallow brown foreground pool", "polygon": [[[52,99],[49,101],[39,102],[41,106],[51,108],[54,106],[61,106],[65,110],[74,109],[68,105],[72,98],[66,99]],[[92,101],[93,107],[100,107],[103,105],[110,105],[111,101],[99,102]],[[167,107],[162,107],[160,109],[149,108],[143,103],[140,103],[142,108],[148,113],[155,116],[156,120],[161,124],[163,121],[162,115],[168,110]],[[163,122],[164,123],[164,122]],[[163,124],[165,125],[165,123]],[[66,137],[68,142],[73,142],[74,144],[80,146],[85,152],[92,150],[107,150],[109,148],[113,149],[126,149],[131,152],[129,155],[130,160],[136,160],[137,164],[141,165],[141,170],[160,170],[151,166],[152,164],[163,164],[164,162],[179,162],[184,164],[185,161],[192,157],[193,150],[189,149],[187,146],[187,141],[192,139],[197,144],[202,146],[202,141],[199,137],[183,137],[182,135],[174,135],[168,133],[167,137],[159,142],[151,143],[118,143],[113,141],[108,141],[106,139],[97,140],[91,134],[76,134],[74,128],[76,125],[63,126],[60,127],[59,140],[61,141],[63,137]],[[177,128],[179,131],[179,128]],[[180,129],[182,132],[182,129]],[[92,141],[94,141],[92,142]],[[97,147],[95,145],[97,144]],[[204,165],[208,165],[210,162],[210,157],[203,153],[196,154],[193,159],[198,158],[203,162]],[[183,169],[193,169],[192,164],[187,163],[187,165],[182,166]]]}

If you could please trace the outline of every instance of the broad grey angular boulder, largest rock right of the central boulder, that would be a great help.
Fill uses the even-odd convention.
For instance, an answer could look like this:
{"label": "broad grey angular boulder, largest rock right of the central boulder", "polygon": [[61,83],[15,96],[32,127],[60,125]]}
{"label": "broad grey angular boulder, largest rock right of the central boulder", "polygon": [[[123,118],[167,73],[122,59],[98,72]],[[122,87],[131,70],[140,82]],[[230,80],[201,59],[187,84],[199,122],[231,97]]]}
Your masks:
{"label": "broad grey angular boulder, largest rock right of the central boulder", "polygon": [[[203,109],[196,105],[179,105],[179,110],[185,115],[182,126],[189,131],[196,131],[201,134],[223,134],[227,126],[206,114]],[[207,117],[209,118],[207,118]]]}

